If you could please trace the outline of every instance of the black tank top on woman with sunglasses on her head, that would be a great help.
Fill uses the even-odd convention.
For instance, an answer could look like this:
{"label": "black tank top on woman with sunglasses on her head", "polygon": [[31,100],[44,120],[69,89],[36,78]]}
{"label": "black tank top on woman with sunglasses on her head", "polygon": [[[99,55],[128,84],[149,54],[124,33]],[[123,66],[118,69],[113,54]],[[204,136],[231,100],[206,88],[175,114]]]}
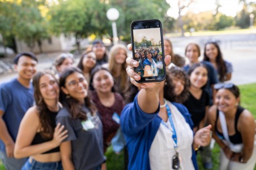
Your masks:
{"label": "black tank top on woman with sunglasses on her head", "polygon": [[[232,142],[233,144],[243,143],[241,133],[238,132],[238,130],[237,130],[237,122],[238,122],[239,116],[241,115],[241,113],[242,113],[243,111],[244,111],[244,108],[238,106],[237,112],[235,113],[235,135],[229,136],[229,140],[230,140],[230,142]],[[220,132],[218,131],[218,129],[217,129],[217,126],[216,126],[216,125],[217,125],[218,118],[219,118],[219,110],[217,110],[217,114],[216,114],[215,131],[216,131],[217,135],[218,135],[220,138],[224,139],[223,133],[220,133]]]}

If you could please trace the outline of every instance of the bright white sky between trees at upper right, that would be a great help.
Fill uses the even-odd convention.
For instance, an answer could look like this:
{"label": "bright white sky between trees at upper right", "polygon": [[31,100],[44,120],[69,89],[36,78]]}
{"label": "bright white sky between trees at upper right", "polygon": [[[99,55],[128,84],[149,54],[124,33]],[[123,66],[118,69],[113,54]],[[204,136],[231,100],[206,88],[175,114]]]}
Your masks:
{"label": "bright white sky between trees at upper right", "polygon": [[[180,0],[181,2],[188,2],[189,0]],[[199,13],[204,11],[215,11],[216,0],[194,0],[194,3],[190,4],[189,9],[185,9],[182,14],[185,14],[188,11]],[[256,0],[248,0],[250,2],[256,2]],[[166,0],[170,4],[167,14],[170,17],[178,18],[178,0]],[[219,12],[224,13],[227,16],[235,17],[237,12],[243,8],[243,4],[239,3],[239,0],[219,0],[221,7]]]}

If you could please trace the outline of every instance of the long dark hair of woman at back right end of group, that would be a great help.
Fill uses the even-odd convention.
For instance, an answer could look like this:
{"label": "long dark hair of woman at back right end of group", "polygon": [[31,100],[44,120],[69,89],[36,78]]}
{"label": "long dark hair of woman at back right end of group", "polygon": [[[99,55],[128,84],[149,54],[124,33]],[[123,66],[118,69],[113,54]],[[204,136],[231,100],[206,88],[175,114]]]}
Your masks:
{"label": "long dark hair of woman at back right end of group", "polygon": [[208,44],[213,44],[218,50],[218,55],[216,57],[216,63],[217,63],[217,67],[218,67],[218,73],[220,75],[219,80],[224,81],[225,80],[225,74],[227,73],[227,68],[226,68],[225,61],[223,59],[223,56],[222,56],[222,53],[220,51],[220,47],[219,47],[218,43],[209,42],[209,43],[205,44],[205,46],[204,46],[204,60],[205,61],[210,61],[209,57],[206,55],[206,45],[208,45]]}

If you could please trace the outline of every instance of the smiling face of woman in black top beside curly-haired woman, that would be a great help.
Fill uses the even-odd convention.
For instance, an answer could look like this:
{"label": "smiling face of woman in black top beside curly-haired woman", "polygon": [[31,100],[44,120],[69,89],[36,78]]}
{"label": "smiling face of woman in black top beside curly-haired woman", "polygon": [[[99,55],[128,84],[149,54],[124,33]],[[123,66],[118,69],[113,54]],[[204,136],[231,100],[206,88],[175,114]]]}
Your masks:
{"label": "smiling face of woman in black top beside curly-haired woman", "polygon": [[208,71],[204,66],[198,66],[190,74],[190,85],[196,89],[201,89],[208,80]]}

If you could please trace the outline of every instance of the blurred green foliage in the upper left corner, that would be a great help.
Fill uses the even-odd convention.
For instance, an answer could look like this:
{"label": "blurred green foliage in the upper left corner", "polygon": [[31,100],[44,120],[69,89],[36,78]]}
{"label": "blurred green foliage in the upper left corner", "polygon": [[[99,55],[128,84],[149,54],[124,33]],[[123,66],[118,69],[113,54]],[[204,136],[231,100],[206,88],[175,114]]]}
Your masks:
{"label": "blurred green foliage in the upper left corner", "polygon": [[4,45],[6,38],[15,35],[31,49],[35,43],[48,37],[47,22],[41,16],[39,6],[45,1],[3,1],[0,6],[0,32]]}

